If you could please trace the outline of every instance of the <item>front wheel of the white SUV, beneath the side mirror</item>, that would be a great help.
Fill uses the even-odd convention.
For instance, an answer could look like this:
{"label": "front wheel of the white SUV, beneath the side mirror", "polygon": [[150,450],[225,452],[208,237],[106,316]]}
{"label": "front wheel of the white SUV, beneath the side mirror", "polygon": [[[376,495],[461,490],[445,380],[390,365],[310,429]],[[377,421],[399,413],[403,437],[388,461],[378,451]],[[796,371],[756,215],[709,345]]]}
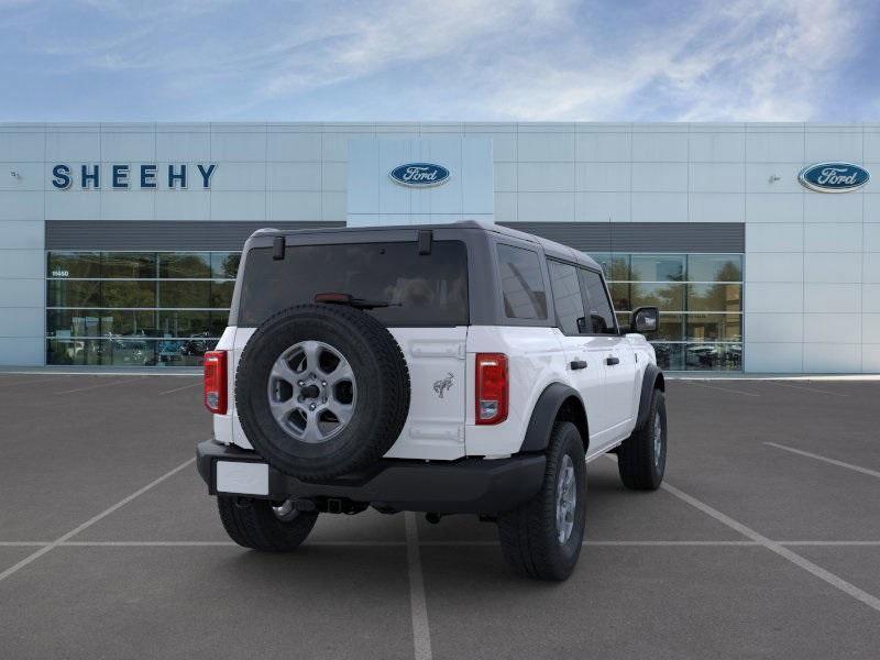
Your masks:
{"label": "front wheel of the white SUV, beneath the side mirror", "polygon": [[663,482],[666,466],[667,403],[663,393],[654,389],[645,426],[617,448],[617,471],[627,488],[656,491]]}

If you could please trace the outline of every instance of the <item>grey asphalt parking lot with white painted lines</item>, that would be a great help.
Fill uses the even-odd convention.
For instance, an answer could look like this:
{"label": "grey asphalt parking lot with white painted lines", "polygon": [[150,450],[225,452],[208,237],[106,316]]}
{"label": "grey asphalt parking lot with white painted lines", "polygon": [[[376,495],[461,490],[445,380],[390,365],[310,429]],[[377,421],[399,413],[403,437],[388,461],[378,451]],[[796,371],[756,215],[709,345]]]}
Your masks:
{"label": "grey asphalt parking lot with white painted lines", "polygon": [[878,382],[675,381],[667,485],[588,468],[562,584],[470,517],[232,544],[194,376],[0,375],[0,658],[878,658]]}

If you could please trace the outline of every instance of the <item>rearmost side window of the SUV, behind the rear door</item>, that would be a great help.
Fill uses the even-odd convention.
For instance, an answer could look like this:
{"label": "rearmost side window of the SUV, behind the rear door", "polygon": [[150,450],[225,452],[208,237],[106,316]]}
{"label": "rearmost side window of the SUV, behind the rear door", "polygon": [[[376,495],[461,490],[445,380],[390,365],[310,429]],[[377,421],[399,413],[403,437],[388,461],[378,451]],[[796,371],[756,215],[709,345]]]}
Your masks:
{"label": "rearmost side window of the SUV, behind the rear door", "polygon": [[508,319],[547,318],[547,294],[537,252],[498,245],[498,272]]}

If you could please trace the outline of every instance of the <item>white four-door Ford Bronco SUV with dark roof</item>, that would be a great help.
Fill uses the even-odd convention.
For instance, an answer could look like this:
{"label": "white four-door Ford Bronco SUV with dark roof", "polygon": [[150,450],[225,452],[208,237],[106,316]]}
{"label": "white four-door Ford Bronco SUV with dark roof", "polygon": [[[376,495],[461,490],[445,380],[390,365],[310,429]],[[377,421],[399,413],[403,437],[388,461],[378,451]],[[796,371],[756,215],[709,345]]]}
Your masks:
{"label": "white four-door Ford Bronco SUV with dark roof", "polygon": [[238,543],[296,548],[320,513],[496,520],[507,561],[568,578],[586,462],[666,465],[663,375],[585,254],[494,224],[261,230],[205,356],[198,468]]}

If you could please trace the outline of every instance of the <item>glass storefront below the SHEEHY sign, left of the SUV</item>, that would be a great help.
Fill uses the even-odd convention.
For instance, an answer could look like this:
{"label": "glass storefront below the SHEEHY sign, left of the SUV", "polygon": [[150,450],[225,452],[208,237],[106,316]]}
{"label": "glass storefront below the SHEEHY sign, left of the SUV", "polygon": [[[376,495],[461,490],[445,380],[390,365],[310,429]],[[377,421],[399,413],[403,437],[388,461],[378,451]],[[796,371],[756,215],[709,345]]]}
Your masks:
{"label": "glass storefront below the SHEEHY sign, left of the SUV", "polygon": [[46,363],[200,366],[229,319],[238,252],[48,252]]}

